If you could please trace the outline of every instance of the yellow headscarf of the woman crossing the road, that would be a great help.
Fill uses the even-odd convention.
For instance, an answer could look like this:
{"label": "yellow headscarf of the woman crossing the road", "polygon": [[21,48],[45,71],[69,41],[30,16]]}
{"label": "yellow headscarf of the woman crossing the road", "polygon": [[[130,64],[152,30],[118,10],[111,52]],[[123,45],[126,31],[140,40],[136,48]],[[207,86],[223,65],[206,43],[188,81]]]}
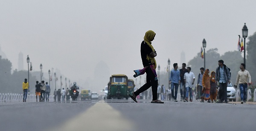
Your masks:
{"label": "yellow headscarf of the woman crossing the road", "polygon": [[[145,33],[145,36],[144,36],[144,42],[146,42],[146,43],[148,44],[148,46],[153,50],[153,52],[154,52],[155,50],[154,50],[154,47],[151,45],[151,41],[153,41],[155,35],[156,35],[156,33],[154,33],[154,31],[149,30],[149,31],[147,31],[147,32]],[[149,57],[149,56],[147,55],[147,60],[148,60],[148,61],[150,60],[151,63],[154,64],[154,68],[156,69],[156,67],[157,67],[157,61],[156,61],[156,59],[151,58],[151,57]]]}

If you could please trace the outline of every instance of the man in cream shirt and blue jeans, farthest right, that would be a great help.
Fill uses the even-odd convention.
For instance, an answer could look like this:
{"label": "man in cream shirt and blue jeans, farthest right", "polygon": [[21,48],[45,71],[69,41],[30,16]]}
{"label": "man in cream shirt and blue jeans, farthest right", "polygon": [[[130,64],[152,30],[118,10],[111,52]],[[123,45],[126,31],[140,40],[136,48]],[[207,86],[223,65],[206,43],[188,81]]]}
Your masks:
{"label": "man in cream shirt and blue jeans, farthest right", "polygon": [[247,79],[249,79],[249,86],[251,85],[251,77],[250,73],[245,70],[245,64],[242,63],[240,65],[240,71],[237,73],[236,77],[236,86],[239,84],[240,88],[240,95],[241,95],[241,104],[246,103],[246,97],[247,97]]}

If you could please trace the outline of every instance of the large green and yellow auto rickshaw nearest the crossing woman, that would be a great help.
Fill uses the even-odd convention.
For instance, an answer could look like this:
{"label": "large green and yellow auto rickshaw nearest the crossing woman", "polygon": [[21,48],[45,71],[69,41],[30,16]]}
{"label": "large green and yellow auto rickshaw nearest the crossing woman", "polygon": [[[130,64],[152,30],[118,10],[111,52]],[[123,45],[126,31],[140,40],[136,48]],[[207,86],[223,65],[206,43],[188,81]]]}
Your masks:
{"label": "large green and yellow auto rickshaw nearest the crossing woman", "polygon": [[128,99],[128,77],[126,75],[111,75],[108,84],[107,99]]}

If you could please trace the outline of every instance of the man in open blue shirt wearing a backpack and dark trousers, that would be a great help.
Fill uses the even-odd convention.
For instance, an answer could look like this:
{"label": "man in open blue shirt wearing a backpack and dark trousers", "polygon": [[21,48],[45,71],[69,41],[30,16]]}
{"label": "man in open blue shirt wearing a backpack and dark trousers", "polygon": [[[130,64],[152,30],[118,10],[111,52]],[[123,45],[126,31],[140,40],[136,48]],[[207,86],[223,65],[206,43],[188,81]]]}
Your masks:
{"label": "man in open blue shirt wearing a backpack and dark trousers", "polygon": [[[215,80],[219,82],[219,103],[227,102],[227,82],[230,84],[230,71],[227,66],[224,64],[223,60],[218,61],[219,67],[216,69]],[[216,83],[217,83],[216,81]]]}

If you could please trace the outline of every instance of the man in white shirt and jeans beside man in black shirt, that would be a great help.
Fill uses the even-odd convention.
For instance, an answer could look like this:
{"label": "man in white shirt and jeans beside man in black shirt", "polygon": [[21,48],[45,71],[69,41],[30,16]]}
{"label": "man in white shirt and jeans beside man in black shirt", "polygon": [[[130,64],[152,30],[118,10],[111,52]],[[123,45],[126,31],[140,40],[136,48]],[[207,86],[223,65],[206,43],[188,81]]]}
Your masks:
{"label": "man in white shirt and jeans beside man in black shirt", "polygon": [[195,75],[191,71],[191,67],[187,67],[188,72],[184,74],[184,81],[186,83],[186,98],[184,102],[189,101],[188,97],[190,96],[190,102],[192,102],[192,88],[195,82]]}

